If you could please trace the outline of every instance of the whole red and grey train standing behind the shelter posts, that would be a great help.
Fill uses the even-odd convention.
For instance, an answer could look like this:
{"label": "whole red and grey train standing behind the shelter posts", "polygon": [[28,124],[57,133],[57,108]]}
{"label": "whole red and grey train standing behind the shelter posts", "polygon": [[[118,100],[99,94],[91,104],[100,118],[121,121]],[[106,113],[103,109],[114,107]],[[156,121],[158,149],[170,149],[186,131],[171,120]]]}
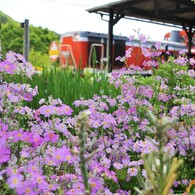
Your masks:
{"label": "whole red and grey train standing behind the shelter posts", "polygon": [[[176,38],[173,39],[173,37],[173,34],[166,34],[165,40],[161,42],[160,49],[162,52],[168,50],[173,55],[178,55],[180,50],[186,49],[186,42],[175,41]],[[151,48],[154,44],[155,41],[147,40],[144,47]],[[100,68],[101,59],[107,56],[107,34],[87,31],[67,32],[61,35],[59,47],[61,67],[71,66],[75,69]],[[114,36],[113,59],[111,59],[113,69],[120,69],[124,66],[123,62],[115,59],[118,56],[124,56],[125,51],[129,48],[133,49],[133,55],[127,61],[129,65],[142,66],[144,60],[147,60],[141,52],[140,40],[133,39],[129,41],[128,37]]]}

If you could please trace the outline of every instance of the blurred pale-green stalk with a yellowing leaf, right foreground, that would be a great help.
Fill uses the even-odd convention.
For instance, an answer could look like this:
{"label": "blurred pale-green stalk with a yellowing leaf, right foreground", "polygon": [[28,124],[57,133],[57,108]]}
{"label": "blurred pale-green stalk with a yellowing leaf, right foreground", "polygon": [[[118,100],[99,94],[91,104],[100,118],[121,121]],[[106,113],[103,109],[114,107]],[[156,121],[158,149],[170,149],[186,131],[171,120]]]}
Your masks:
{"label": "blurred pale-green stalk with a yellowing leaf, right foreground", "polygon": [[183,163],[182,160],[178,160],[176,157],[172,158],[169,153],[164,151],[164,147],[168,143],[166,132],[174,126],[175,119],[167,117],[157,119],[151,111],[148,113],[154,126],[154,128],[148,128],[148,131],[152,137],[155,136],[158,151],[142,156],[147,179],[143,180],[138,175],[143,190],[140,191],[138,188],[135,190],[140,195],[167,195],[176,180],[177,170]]}

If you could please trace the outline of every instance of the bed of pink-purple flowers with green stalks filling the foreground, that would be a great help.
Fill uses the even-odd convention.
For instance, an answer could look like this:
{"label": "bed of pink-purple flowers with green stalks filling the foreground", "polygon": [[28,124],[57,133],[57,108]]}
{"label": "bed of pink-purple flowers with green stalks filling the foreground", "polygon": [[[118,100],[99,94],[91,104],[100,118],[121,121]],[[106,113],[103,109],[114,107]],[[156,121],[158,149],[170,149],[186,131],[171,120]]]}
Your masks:
{"label": "bed of pink-purple flowers with green stalks filling the foreground", "polygon": [[76,100],[80,113],[73,115],[72,105],[52,96],[39,108],[23,106],[38,89],[6,78],[35,72],[9,52],[0,63],[1,194],[185,192],[195,178],[189,63],[170,57],[146,78],[132,68],[113,73],[110,85],[120,93]]}

